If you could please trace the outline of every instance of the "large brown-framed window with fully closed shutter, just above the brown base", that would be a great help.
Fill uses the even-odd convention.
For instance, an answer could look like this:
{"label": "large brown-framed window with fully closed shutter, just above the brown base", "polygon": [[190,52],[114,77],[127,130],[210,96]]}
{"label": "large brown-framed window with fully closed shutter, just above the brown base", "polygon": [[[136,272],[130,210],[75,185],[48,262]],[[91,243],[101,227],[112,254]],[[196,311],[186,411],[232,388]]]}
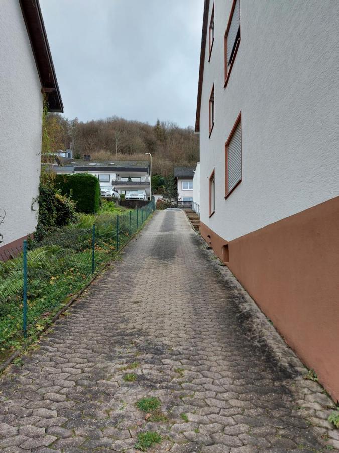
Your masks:
{"label": "large brown-framed window with fully closed shutter, just above the brown base", "polygon": [[241,114],[239,114],[231,134],[225,144],[226,196],[242,180],[241,169]]}

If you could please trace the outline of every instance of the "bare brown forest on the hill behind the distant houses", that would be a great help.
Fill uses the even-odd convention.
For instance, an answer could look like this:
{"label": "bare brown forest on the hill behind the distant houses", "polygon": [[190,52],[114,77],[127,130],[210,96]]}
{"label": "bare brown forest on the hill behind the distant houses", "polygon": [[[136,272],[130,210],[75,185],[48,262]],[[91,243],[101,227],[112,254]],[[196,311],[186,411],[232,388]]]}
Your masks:
{"label": "bare brown forest on the hill behind the distant houses", "polygon": [[86,123],[51,113],[46,118],[49,151],[71,148],[73,157],[94,159],[148,159],[153,173],[168,176],[175,165],[194,167],[199,161],[199,136],[192,127],[157,121],[152,126],[116,116]]}

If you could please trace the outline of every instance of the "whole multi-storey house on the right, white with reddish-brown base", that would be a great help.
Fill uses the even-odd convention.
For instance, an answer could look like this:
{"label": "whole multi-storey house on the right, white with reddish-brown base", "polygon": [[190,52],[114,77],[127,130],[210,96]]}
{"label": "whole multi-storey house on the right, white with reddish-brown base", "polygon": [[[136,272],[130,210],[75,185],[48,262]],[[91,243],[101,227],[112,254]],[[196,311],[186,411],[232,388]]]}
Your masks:
{"label": "whole multi-storey house on the right, white with reddish-brown base", "polygon": [[335,398],[338,18],[339,2],[205,0],[196,115],[201,235]]}

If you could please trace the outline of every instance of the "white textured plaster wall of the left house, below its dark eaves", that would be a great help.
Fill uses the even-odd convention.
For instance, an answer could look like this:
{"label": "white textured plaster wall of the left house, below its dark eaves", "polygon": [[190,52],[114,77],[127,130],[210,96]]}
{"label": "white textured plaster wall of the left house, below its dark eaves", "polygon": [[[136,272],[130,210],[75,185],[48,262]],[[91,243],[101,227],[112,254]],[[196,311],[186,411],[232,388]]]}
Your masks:
{"label": "white textured plaster wall of the left house, below its dark eaves", "polygon": [[[43,95],[18,0],[1,0],[0,14],[0,233],[6,245],[37,224]],[[35,204],[37,209],[37,204]],[[1,211],[0,211],[1,212]]]}

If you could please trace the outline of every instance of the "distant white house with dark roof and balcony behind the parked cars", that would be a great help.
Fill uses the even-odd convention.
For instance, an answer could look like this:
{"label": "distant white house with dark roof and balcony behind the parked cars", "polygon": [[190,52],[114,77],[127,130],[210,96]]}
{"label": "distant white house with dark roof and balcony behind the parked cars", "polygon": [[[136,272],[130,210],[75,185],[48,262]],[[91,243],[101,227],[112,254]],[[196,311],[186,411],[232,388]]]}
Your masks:
{"label": "distant white house with dark roof and balcony behind the parked cars", "polygon": [[115,187],[120,194],[139,191],[150,197],[150,162],[133,160],[91,160],[89,155],[83,159],[57,159],[61,165],[52,165],[57,174],[88,172],[99,179],[100,186]]}

